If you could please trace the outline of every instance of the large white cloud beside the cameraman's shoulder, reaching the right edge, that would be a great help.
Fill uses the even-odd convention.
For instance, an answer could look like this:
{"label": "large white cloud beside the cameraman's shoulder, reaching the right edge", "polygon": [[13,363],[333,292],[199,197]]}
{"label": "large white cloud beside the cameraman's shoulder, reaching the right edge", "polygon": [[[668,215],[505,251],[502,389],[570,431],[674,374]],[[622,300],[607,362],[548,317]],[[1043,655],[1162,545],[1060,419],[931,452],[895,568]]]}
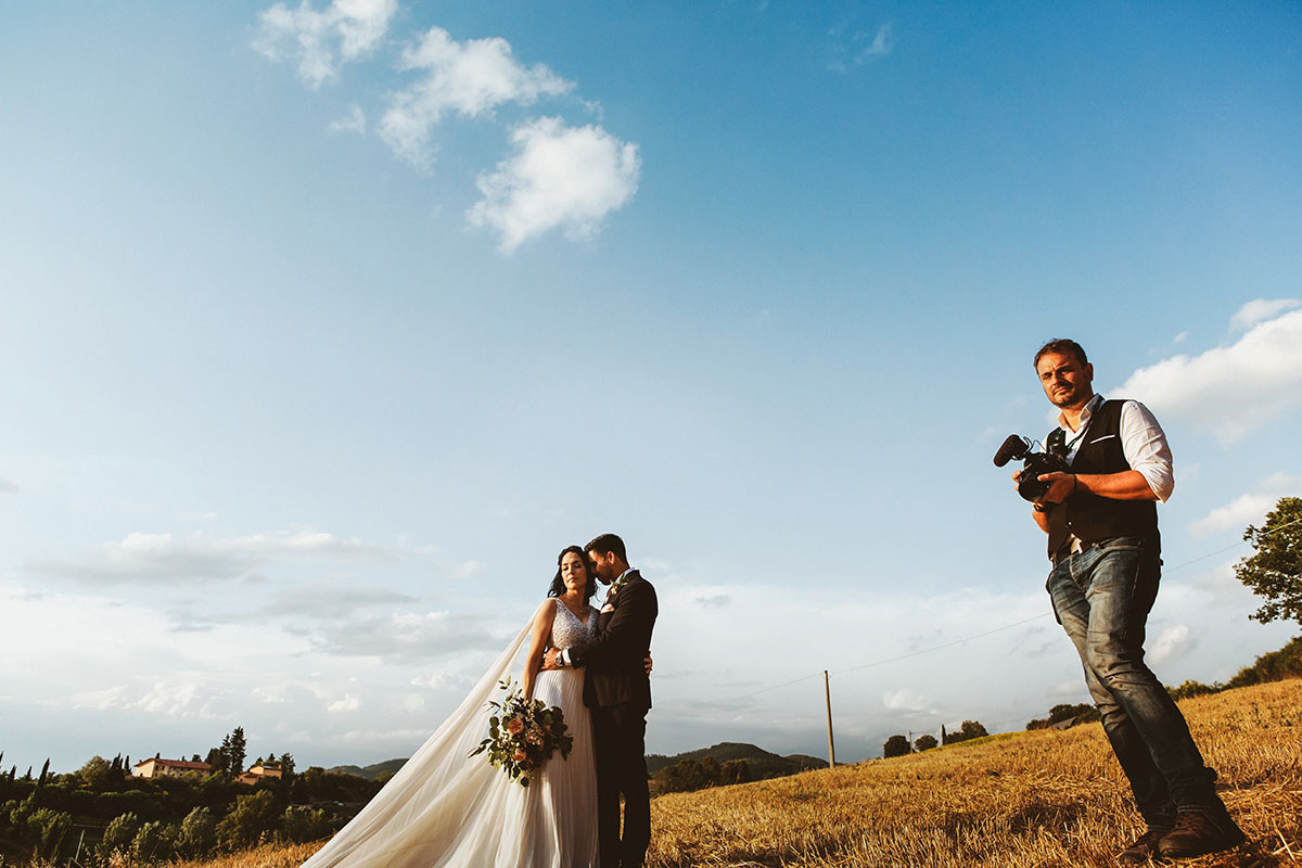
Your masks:
{"label": "large white cloud beside the cameraman's shoulder, reaching the right edge", "polygon": [[1139,368],[1116,393],[1236,442],[1302,406],[1302,311],[1258,323],[1229,346]]}

